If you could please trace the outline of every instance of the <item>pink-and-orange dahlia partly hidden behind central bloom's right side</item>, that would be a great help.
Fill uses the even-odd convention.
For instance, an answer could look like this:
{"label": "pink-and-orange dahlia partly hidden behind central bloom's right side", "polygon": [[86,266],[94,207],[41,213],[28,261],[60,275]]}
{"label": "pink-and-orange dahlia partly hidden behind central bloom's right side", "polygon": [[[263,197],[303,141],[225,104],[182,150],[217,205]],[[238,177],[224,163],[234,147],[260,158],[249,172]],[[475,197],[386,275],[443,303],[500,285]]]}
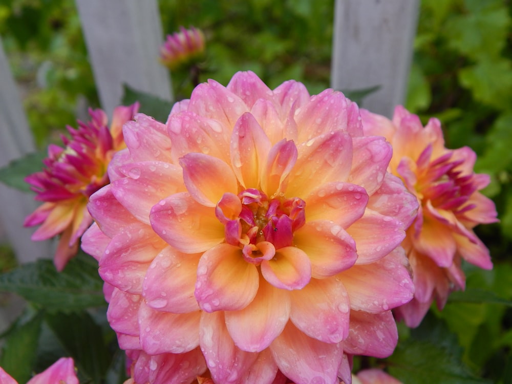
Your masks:
{"label": "pink-and-orange dahlia partly hidden behind central bloom's right side", "polygon": [[479,190],[489,176],[475,174],[476,154],[468,147],[444,147],[441,124],[431,119],[423,127],[418,116],[397,106],[393,120],[361,111],[364,131],[382,135],[393,147],[389,170],[399,176],[420,204],[418,217],[403,242],[413,270],[414,300],[395,310],[416,327],[434,300],[444,307],[453,290],[464,289],[462,259],[491,269],[489,251],[473,228],[494,223],[496,207]]}

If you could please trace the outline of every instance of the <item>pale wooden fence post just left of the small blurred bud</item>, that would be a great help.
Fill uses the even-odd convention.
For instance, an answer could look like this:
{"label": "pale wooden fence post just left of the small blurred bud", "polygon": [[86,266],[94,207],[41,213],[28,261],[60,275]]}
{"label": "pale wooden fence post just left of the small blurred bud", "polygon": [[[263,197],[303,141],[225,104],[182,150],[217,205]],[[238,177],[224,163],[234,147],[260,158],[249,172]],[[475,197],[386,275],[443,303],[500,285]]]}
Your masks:
{"label": "pale wooden fence post just left of the small blurred bud", "polygon": [[112,114],[122,83],[172,100],[170,78],[158,62],[163,42],[156,0],[76,0],[100,102]]}

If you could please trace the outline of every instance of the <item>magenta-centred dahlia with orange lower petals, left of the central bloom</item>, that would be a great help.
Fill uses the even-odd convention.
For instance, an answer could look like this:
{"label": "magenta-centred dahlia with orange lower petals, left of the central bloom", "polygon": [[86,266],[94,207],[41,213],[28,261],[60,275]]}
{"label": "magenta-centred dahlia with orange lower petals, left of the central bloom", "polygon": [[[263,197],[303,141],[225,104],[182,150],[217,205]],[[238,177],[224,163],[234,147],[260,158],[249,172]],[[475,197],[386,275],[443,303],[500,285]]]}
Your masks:
{"label": "magenta-centred dahlia with orange lower petals, left of the central bloom", "polygon": [[87,210],[89,197],[108,184],[106,167],[115,152],[125,148],[122,126],[131,120],[139,105],[114,109],[109,129],[108,117],[100,110],[89,110],[91,121],[78,121],[78,128],[67,126],[71,138],[62,135],[64,147],[48,146],[45,168],[25,181],[43,201],[25,219],[25,226],[39,225],[32,240],[47,240],[60,235],[55,253],[56,268],[62,270],[78,250],[78,239],[92,224]]}

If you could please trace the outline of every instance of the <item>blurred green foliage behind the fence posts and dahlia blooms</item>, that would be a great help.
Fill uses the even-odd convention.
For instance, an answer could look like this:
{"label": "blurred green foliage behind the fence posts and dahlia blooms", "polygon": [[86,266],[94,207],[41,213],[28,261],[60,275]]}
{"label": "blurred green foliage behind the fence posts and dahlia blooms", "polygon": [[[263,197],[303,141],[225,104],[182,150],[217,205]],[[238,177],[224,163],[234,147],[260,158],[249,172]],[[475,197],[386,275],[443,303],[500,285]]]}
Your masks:
{"label": "blurred green foliage behind the fence posts and dahlia blooms", "polygon": [[[201,81],[211,77],[226,84],[234,72],[253,70],[270,88],[290,78],[304,82],[311,94],[329,87],[333,0],[160,0],[159,5],[164,33],[181,25],[204,31]],[[444,369],[449,355],[455,360],[448,360],[446,370],[460,364],[473,380],[461,373],[454,382],[512,383],[511,20],[508,0],[421,0],[406,107],[425,122],[438,117],[447,147],[468,145],[477,152],[476,171],[492,177],[484,193],[496,202],[501,222],[477,228],[495,268],[465,266],[474,302],[470,295],[454,296],[418,330],[401,329],[405,344],[386,364],[402,380],[408,376],[400,371],[400,361],[432,352],[429,346],[418,347],[430,337],[441,344],[432,352],[441,360],[432,357],[426,362],[431,366],[421,368],[425,381],[414,371],[416,379],[409,382],[443,382],[432,372]],[[98,106],[75,4],[3,0],[0,35],[37,145],[44,148],[66,124],[75,125],[87,106]],[[192,89],[187,75],[172,74],[178,98]],[[411,340],[416,349],[407,349]]]}

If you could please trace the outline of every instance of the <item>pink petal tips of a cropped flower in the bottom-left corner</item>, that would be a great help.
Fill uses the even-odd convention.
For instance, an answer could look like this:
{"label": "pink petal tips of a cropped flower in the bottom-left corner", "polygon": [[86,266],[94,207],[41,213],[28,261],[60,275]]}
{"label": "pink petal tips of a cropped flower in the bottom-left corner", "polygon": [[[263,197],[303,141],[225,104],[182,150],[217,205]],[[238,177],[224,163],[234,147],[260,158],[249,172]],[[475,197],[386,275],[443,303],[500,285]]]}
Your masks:
{"label": "pink petal tips of a cropped flower in the bottom-left corner", "polygon": [[[75,366],[71,357],[61,357],[45,371],[32,377],[27,384],[78,384]],[[0,384],[18,384],[0,367]]]}

